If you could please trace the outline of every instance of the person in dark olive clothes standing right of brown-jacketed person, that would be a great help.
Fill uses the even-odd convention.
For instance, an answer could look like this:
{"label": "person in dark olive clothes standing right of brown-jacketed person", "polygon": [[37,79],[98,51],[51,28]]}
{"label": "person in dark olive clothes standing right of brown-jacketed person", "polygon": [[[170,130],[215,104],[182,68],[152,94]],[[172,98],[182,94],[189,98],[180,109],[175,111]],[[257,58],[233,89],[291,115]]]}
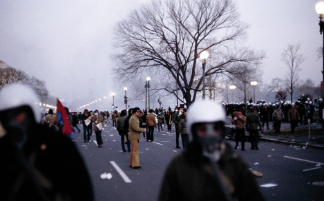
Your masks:
{"label": "person in dark olive clothes standing right of brown-jacketed person", "polygon": [[258,148],[258,140],[259,140],[259,132],[258,126],[261,130],[261,123],[258,116],[258,113],[254,112],[254,107],[250,107],[250,112],[247,114],[247,128],[249,129],[250,141],[251,141],[251,149],[259,150]]}

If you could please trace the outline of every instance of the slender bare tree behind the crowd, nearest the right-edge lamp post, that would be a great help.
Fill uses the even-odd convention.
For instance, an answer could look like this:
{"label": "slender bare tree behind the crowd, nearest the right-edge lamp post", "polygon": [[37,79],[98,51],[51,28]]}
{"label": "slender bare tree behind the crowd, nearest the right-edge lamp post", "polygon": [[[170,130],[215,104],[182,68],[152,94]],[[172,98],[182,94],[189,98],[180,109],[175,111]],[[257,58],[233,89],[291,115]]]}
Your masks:
{"label": "slender bare tree behind the crowd, nearest the right-edge lamp post", "polygon": [[305,61],[303,54],[299,54],[301,43],[288,45],[287,49],[281,54],[281,59],[288,66],[287,73],[287,92],[290,94],[290,100],[293,101],[294,90],[298,86],[299,72],[301,64]]}

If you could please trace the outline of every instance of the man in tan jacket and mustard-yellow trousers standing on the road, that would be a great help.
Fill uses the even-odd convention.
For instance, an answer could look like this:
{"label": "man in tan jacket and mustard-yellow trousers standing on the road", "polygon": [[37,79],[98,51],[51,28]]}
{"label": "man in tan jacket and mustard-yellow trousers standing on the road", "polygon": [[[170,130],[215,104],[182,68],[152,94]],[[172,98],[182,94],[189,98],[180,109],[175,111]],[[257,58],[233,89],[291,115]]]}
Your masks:
{"label": "man in tan jacket and mustard-yellow trousers standing on the road", "polygon": [[132,111],[132,116],[129,119],[129,131],[128,136],[131,141],[131,158],[129,160],[129,167],[133,167],[133,169],[140,168],[140,155],[138,153],[138,141],[141,139],[141,133],[146,131],[146,128],[140,127],[140,108],[135,107]]}

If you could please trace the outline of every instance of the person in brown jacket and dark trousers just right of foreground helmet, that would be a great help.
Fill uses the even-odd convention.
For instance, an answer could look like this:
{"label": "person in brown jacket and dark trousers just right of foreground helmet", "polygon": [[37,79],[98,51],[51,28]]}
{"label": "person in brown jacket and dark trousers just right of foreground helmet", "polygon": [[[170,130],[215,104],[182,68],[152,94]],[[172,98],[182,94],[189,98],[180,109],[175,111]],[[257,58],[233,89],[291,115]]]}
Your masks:
{"label": "person in brown jacket and dark trousers just right of foreground helmet", "polygon": [[236,116],[234,116],[233,120],[231,120],[231,123],[234,123],[235,125],[235,142],[236,145],[234,149],[238,149],[238,142],[241,142],[241,150],[245,151],[245,123],[247,122],[247,119],[244,115],[242,115],[242,110],[239,110],[236,113]]}

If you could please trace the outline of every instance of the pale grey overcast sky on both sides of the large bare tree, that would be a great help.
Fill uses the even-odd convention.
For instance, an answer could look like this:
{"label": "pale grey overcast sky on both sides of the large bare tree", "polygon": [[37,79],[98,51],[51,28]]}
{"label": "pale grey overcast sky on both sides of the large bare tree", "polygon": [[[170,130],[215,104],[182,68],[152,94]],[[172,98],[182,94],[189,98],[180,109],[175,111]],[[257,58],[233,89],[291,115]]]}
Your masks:
{"label": "pale grey overcast sky on both sides of the large bare tree", "polygon": [[[60,99],[92,96],[97,100],[111,98],[115,92],[122,101],[125,84],[108,69],[113,28],[133,9],[149,2],[1,0],[0,60],[44,80],[50,94]],[[288,44],[301,43],[300,53],[306,59],[301,79],[312,78],[320,84],[323,62],[316,50],[323,45],[323,35],[314,8],[318,0],[236,2],[240,20],[250,26],[244,45],[266,51],[264,83],[277,76],[285,78],[287,66],[280,55]]]}

